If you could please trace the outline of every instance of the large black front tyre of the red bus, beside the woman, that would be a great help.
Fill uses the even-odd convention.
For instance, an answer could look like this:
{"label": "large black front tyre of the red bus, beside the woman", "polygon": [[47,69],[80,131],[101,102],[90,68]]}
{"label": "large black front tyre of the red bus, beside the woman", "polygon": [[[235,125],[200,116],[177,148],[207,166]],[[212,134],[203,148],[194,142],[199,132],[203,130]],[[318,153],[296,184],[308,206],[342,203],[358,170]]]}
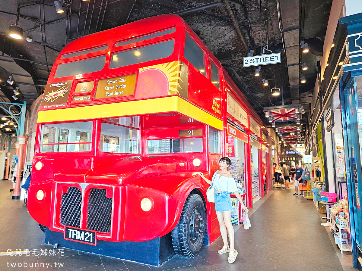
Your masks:
{"label": "large black front tyre of the red bus, beside the woman", "polygon": [[180,220],[172,230],[172,244],[178,255],[194,258],[203,245],[206,212],[202,198],[189,195],[182,209]]}

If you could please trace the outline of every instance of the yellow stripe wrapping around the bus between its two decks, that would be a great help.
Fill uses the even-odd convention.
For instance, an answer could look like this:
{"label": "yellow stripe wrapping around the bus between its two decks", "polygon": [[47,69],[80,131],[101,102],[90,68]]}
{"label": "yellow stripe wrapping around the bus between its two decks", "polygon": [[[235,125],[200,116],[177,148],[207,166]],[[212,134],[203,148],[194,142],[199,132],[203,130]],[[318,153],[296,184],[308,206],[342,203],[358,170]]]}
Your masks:
{"label": "yellow stripe wrapping around the bus between its two decks", "polygon": [[222,120],[219,120],[178,96],[39,111],[38,122],[103,119],[164,112],[179,112],[191,119],[201,121],[219,130],[223,129]]}

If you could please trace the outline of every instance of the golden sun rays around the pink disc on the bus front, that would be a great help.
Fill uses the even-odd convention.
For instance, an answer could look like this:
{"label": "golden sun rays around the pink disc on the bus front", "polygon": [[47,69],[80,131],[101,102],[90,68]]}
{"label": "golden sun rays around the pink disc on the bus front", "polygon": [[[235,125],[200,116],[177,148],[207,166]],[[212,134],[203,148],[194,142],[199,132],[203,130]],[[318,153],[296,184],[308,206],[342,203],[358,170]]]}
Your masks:
{"label": "golden sun rays around the pink disc on the bus front", "polygon": [[164,74],[166,74],[166,76],[168,78],[168,84],[169,84],[168,95],[174,95],[176,93],[178,95],[180,95],[180,92],[178,91],[178,87],[180,87],[181,90],[182,90],[182,87],[180,86],[178,81],[180,80],[181,82],[184,82],[180,78],[180,74],[182,72],[179,67],[181,65],[183,65],[183,64],[181,64],[180,61],[173,61],[173,62],[169,62],[169,63],[163,63],[163,64],[140,68],[139,71],[146,70],[149,68],[161,70]]}

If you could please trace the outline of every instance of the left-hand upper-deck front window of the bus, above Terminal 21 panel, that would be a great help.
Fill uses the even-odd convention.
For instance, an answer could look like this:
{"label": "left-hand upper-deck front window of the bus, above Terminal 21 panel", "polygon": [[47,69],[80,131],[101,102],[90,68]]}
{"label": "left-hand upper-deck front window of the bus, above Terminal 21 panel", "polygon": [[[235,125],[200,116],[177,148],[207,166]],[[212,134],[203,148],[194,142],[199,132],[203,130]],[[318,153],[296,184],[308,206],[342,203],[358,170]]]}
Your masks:
{"label": "left-hand upper-deck front window of the bus, above Terminal 21 panel", "polygon": [[106,56],[98,56],[90,59],[59,64],[56,67],[54,78],[98,72],[103,69],[105,63]]}

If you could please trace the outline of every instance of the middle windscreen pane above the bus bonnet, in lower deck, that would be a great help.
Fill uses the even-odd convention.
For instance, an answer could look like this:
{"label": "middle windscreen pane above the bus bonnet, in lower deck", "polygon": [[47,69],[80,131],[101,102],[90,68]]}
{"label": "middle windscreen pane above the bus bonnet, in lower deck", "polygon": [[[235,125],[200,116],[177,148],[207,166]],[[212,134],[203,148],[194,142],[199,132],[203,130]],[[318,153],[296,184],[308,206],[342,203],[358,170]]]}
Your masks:
{"label": "middle windscreen pane above the bus bonnet, in lower deck", "polygon": [[101,152],[138,154],[138,130],[102,122],[99,149]]}

